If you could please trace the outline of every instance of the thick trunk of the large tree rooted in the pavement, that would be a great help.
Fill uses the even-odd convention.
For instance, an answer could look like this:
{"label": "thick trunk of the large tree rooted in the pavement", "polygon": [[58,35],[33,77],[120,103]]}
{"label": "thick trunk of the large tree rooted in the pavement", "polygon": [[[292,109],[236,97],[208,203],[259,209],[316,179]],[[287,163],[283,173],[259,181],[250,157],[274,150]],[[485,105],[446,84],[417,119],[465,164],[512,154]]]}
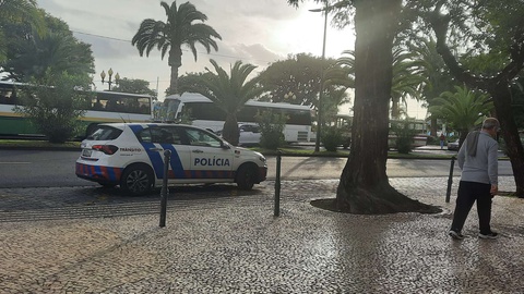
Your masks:
{"label": "thick trunk of the large tree rooted in the pavement", "polygon": [[392,47],[401,0],[356,0],[355,115],[352,152],[336,193],[336,207],[352,213],[437,211],[396,192],[385,173]]}

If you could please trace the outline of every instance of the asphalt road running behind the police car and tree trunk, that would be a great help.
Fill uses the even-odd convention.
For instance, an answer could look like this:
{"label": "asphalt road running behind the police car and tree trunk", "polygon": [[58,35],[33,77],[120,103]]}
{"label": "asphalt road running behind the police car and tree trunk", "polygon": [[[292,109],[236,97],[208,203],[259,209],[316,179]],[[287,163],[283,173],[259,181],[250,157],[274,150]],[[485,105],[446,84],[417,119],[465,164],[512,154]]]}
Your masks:
{"label": "asphalt road running behind the police car and tree trunk", "polygon": [[[78,151],[0,150],[1,187],[97,186],[78,179],[74,162]],[[347,159],[322,157],[283,157],[283,180],[338,179]],[[451,160],[390,159],[386,172],[391,177],[448,176]],[[267,158],[269,179],[275,179],[276,158]],[[499,162],[500,175],[511,175],[509,161]],[[454,174],[460,175],[455,164]]]}

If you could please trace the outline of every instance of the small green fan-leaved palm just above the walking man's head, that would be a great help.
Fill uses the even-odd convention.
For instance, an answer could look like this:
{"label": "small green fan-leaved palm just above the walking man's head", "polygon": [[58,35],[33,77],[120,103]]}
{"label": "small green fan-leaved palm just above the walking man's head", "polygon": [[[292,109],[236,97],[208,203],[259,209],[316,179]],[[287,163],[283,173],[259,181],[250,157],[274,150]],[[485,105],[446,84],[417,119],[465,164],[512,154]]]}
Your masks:
{"label": "small green fan-leaved palm just above the walking man's head", "polygon": [[493,109],[493,102],[489,101],[486,94],[477,94],[466,86],[455,86],[455,91],[444,91],[433,99],[433,106],[429,111],[439,119],[453,124],[461,133],[458,146],[475,125],[483,122],[484,118]]}

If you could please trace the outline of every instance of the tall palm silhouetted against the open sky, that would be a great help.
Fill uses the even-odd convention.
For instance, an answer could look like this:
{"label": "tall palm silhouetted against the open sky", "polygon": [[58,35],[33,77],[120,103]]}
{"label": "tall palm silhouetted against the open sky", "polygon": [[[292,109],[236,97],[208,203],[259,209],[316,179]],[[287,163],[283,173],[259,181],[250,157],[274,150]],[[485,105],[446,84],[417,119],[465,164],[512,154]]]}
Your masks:
{"label": "tall palm silhouetted against the open sky", "polygon": [[139,30],[132,39],[132,45],[136,46],[140,56],[150,56],[151,50],[156,47],[162,52],[162,59],[167,51],[168,64],[171,68],[171,81],[169,93],[178,90],[178,69],[182,65],[182,45],[189,46],[196,61],[196,44],[204,46],[207,53],[211,47],[218,50],[218,46],[213,38],[222,39],[221,35],[209,25],[196,23],[195,21],[205,22],[207,16],[198,11],[193,4],[186,2],[177,9],[177,1],[172,1],[171,5],[162,1],[160,5],[166,11],[167,22],[146,19],[142,21]]}

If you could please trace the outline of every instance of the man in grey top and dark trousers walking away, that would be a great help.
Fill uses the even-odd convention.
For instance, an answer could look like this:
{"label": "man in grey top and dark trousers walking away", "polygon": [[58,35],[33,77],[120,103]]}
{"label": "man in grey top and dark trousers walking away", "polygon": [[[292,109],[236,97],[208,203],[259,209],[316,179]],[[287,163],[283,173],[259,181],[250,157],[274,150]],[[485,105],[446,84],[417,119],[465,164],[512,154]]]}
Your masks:
{"label": "man in grey top and dark trousers walking away", "polygon": [[467,134],[458,150],[457,161],[462,170],[456,197],[453,223],[449,232],[454,240],[462,240],[462,228],[467,215],[477,201],[478,226],[480,238],[497,238],[491,231],[491,198],[498,192],[498,149],[495,139],[499,131],[499,121],[488,118],[483,123],[481,131]]}

